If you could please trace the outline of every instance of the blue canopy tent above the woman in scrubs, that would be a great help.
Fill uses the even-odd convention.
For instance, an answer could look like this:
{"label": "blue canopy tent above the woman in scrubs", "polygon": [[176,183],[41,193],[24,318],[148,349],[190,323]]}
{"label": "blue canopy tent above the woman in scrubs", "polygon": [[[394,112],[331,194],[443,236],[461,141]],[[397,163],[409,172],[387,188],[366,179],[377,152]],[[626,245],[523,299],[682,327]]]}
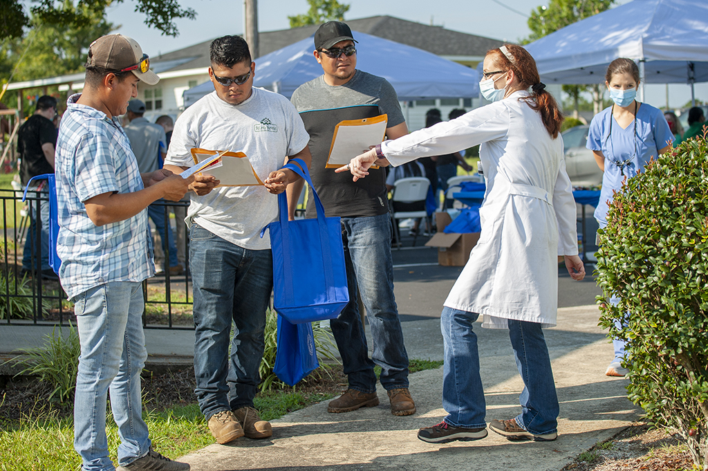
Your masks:
{"label": "blue canopy tent above the woman in scrubs", "polygon": [[708,2],[634,0],[525,47],[547,84],[604,83],[607,65],[628,57],[643,83],[693,86],[708,81]]}

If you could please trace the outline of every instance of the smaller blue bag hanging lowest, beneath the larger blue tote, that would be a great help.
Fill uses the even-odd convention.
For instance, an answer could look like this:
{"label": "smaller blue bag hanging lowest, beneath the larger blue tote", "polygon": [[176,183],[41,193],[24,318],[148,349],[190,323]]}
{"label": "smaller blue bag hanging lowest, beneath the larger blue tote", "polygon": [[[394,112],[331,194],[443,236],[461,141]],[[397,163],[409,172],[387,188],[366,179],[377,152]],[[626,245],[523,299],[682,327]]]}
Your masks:
{"label": "smaller blue bag hanging lowest, beneath the larger blue tote", "polygon": [[290,324],[278,316],[278,351],[273,373],[285,384],[295,386],[318,367],[312,323]]}

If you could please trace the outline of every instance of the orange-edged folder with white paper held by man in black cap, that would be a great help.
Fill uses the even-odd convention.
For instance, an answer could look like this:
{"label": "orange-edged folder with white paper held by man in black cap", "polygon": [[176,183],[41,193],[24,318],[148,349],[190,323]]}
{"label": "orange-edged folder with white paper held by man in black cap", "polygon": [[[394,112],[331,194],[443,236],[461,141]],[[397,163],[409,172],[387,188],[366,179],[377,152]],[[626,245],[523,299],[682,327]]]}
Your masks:
{"label": "orange-edged folder with white paper held by man in black cap", "polygon": [[[381,143],[386,135],[388,118],[388,115],[379,115],[338,123],[334,128],[326,168],[337,169],[346,165],[353,157],[367,152],[370,146]],[[379,167],[374,165],[371,168]]]}

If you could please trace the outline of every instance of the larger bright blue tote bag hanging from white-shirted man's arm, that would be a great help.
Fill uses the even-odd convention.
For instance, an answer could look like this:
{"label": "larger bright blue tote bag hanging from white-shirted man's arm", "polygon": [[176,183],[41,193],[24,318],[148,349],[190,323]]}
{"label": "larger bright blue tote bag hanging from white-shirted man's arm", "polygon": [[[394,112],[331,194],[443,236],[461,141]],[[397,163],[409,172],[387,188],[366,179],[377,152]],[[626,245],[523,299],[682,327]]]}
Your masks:
{"label": "larger bright blue tote bag hanging from white-shirted man's arm", "polygon": [[349,302],[340,218],[324,216],[302,159],[290,159],[282,168],[295,171],[307,181],[317,218],[288,221],[287,195],[278,195],[280,218],[261,231],[261,237],[265,229],[270,231],[273,307],[291,324],[334,319]]}

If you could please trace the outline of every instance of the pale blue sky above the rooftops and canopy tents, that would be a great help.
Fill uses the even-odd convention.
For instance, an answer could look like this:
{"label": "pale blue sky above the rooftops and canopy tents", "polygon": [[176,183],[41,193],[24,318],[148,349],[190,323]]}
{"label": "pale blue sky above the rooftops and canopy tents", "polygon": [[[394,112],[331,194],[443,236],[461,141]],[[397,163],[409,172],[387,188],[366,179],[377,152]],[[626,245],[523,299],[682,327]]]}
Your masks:
{"label": "pale blue sky above the rooftops and canopy tents", "polygon": [[[629,0],[619,0],[619,4]],[[135,3],[125,0],[108,9],[108,20],[121,25],[117,33],[135,38],[144,52],[151,56],[178,50],[198,42],[226,34],[241,34],[244,30],[242,0],[181,0],[198,13],[195,21],[178,21],[180,35],[170,38],[151,30],[143,23],[144,16],[135,13]],[[451,30],[488,38],[517,41],[527,37],[530,30],[527,16],[533,8],[547,4],[547,0],[341,0],[350,4],[346,19],[389,15],[418,23],[433,23]],[[305,0],[259,0],[258,29],[272,31],[287,29],[287,16],[305,13]],[[523,13],[520,14],[520,13]],[[708,100],[708,84],[697,84],[696,98]],[[669,103],[683,106],[690,100],[690,88],[683,84],[669,86]],[[646,101],[653,106],[666,106],[666,87],[646,87]]]}

